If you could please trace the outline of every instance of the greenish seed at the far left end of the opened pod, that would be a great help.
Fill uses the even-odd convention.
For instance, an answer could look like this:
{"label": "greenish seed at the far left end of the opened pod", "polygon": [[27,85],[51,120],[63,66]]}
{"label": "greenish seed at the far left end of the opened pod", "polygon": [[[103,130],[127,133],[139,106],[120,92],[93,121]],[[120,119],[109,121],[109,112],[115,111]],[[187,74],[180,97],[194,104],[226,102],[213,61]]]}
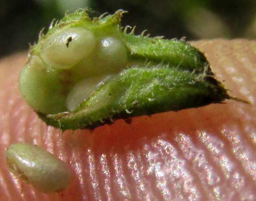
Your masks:
{"label": "greenish seed at the far left end of the opened pod", "polygon": [[47,69],[38,56],[30,58],[19,82],[23,98],[34,110],[46,114],[67,110],[63,93],[67,87],[62,84],[59,72]]}

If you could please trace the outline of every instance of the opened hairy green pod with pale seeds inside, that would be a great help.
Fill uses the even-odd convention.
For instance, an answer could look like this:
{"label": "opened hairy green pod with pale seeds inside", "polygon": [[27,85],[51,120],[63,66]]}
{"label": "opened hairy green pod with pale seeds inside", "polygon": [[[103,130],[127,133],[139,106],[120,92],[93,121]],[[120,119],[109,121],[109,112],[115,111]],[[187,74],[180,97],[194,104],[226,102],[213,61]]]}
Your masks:
{"label": "opened hairy green pod with pale seeds inside", "polygon": [[127,33],[128,26],[122,31],[123,13],[90,19],[78,10],[40,34],[20,74],[20,91],[46,123],[94,128],[232,99],[195,47]]}

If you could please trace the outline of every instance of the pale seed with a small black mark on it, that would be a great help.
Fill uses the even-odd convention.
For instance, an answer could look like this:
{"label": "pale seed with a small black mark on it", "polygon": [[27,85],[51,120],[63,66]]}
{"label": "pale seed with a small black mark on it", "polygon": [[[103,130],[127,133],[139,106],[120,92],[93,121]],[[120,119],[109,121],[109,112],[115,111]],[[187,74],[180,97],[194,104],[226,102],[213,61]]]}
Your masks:
{"label": "pale seed with a small black mark on it", "polygon": [[40,56],[47,65],[57,69],[74,66],[94,50],[94,34],[85,28],[67,28],[42,43]]}

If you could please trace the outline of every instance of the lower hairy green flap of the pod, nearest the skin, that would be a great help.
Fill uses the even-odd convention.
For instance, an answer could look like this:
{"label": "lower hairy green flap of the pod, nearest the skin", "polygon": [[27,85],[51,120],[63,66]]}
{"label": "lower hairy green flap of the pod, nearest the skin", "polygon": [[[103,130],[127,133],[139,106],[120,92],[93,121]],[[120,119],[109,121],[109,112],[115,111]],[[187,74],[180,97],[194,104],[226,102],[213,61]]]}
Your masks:
{"label": "lower hairy green flap of the pod, nearest the skin", "polygon": [[74,112],[40,115],[61,130],[93,128],[113,118],[198,107],[228,98],[216,80],[169,67],[130,68],[94,92]]}

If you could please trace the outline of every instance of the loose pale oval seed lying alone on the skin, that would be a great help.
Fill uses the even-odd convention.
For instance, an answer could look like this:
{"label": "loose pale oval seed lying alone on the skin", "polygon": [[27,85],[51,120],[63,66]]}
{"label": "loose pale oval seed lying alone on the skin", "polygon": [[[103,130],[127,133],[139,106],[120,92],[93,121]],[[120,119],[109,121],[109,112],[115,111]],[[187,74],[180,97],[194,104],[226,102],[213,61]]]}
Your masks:
{"label": "loose pale oval seed lying alone on the skin", "polygon": [[36,145],[13,144],[5,157],[14,175],[43,193],[60,192],[71,182],[67,164]]}

